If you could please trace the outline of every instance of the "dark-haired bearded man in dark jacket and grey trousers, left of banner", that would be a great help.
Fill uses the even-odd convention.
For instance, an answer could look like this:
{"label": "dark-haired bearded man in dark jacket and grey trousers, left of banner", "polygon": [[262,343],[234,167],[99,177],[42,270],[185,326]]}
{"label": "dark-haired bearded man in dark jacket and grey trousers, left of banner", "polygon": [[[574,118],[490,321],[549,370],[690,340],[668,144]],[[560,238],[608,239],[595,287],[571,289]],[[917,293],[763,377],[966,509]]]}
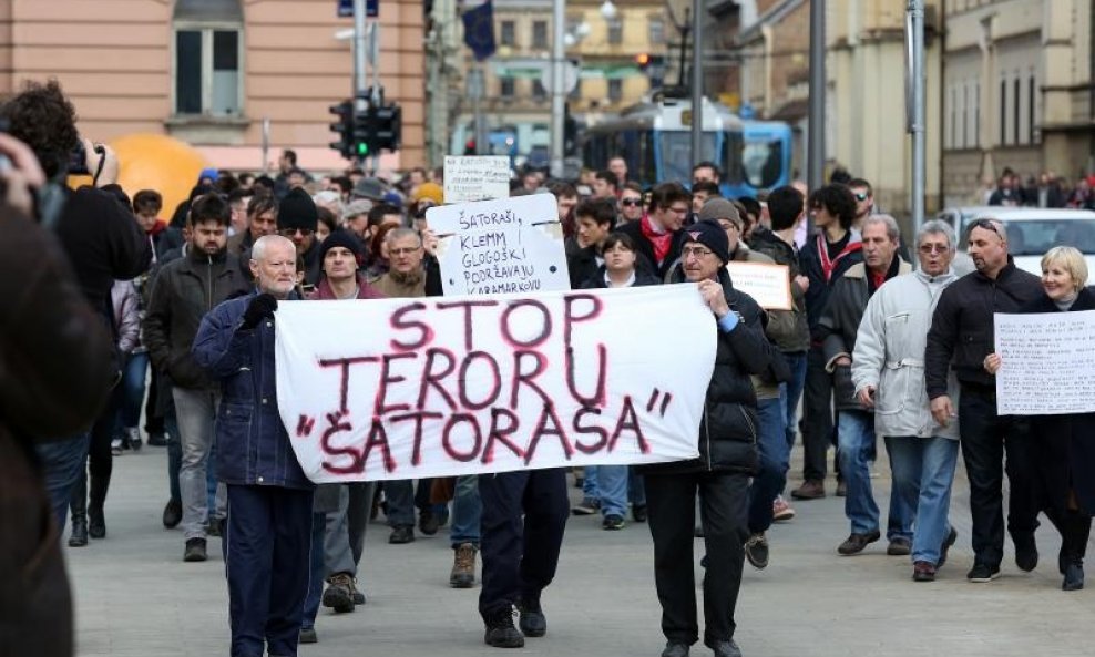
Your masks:
{"label": "dark-haired bearded man in dark jacket and grey trousers, left of banner", "polygon": [[[209,520],[205,471],[213,446],[213,421],[219,387],[191,355],[202,316],[217,304],[245,294],[236,256],[227,253],[231,209],[216,194],[194,199],[187,225],[191,244],[186,255],[172,260],[156,274],[144,318],[144,342],[153,367],[172,383],[172,399],[178,418],[182,463],[178,472],[183,502],[185,561],[205,561],[206,523]],[[223,517],[223,494],[217,493]]]}

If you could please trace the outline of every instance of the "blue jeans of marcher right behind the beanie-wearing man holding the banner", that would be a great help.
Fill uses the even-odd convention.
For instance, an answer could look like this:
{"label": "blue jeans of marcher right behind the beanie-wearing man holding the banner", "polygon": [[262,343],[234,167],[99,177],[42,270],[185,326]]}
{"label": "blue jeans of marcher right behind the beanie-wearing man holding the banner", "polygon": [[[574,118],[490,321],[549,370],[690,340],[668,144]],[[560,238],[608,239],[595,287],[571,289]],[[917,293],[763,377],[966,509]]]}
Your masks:
{"label": "blue jeans of marcher right behind the beanie-wearing man holding the banner", "polygon": [[749,485],[750,534],[766,532],[771,526],[771,503],[787,484],[787,469],[790,466],[790,448],[787,446],[780,398],[758,399],[757,419],[760,424],[757,435],[760,461]]}

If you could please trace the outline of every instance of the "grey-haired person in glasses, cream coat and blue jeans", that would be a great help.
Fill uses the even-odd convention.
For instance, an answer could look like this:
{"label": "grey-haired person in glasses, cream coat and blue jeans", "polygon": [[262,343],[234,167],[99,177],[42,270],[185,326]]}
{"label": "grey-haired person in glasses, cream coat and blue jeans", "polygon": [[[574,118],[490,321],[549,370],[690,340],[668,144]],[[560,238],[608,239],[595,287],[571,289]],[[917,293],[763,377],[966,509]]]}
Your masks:
{"label": "grey-haired person in glasses, cream coat and blue jeans", "polygon": [[[924,348],[935,304],[958,280],[951,268],[954,230],[940,220],[920,228],[920,268],[898,276],[871,297],[859,325],[851,359],[856,396],[874,409],[874,432],[886,441],[893,472],[891,496],[913,510],[912,578],[932,582],[958,538],[948,522],[958,463],[958,422],[932,418],[924,392]],[[951,373],[949,393],[958,399]]]}

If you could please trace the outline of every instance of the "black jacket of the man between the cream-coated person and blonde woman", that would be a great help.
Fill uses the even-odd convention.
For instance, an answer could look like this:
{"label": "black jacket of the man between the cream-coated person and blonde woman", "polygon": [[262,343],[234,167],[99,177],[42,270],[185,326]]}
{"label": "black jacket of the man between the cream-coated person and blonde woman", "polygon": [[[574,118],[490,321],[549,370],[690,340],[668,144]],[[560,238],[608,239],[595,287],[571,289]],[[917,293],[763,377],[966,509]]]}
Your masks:
{"label": "black jacket of the man between the cream-coated person and blonde woman", "polygon": [[924,350],[928,398],[946,394],[946,373],[953,366],[960,383],[991,388],[995,377],[984,359],[995,347],[994,312],[1017,312],[1042,296],[1037,276],[1015,267],[1012,257],[993,280],[972,271],[943,290],[932,315]]}

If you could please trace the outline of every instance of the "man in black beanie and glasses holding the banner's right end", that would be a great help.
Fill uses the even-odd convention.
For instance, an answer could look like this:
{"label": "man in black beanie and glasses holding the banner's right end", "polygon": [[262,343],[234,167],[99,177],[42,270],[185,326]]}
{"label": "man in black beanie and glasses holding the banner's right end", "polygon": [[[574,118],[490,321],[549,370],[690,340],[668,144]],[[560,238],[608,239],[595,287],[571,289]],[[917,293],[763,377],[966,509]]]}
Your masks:
{"label": "man in black beanie and glasses holding the banner's right end", "polygon": [[[761,310],[734,289],[726,273],[729,243],[709,220],[683,229],[676,281],[698,284],[717,325],[715,371],[707,388],[697,446],[690,461],[646,465],[646,503],[654,538],[654,582],[662,603],[662,657],[686,657],[699,640],[693,530],[696,493],[707,551],[704,577],[704,644],[716,657],[739,657],[734,608],[741,586],[749,476],[757,469],[757,398],[750,374],[768,370],[771,351]],[[689,286],[690,287],[690,286]],[[695,294],[684,288],[682,294]],[[769,502],[770,504],[770,502]]]}

